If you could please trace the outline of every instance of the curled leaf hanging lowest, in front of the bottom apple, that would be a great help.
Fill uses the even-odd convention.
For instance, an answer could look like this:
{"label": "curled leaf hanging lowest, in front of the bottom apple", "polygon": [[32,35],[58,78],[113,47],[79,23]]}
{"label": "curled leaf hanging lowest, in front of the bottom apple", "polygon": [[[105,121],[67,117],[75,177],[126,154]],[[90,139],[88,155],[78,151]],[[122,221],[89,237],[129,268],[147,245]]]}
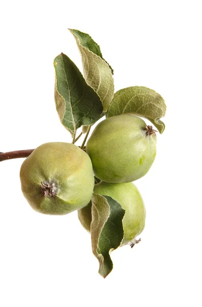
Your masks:
{"label": "curled leaf hanging lowest, in front of the bottom apple", "polygon": [[113,269],[110,252],[117,249],[123,240],[122,220],[125,210],[110,198],[93,193],[91,239],[94,255],[99,261],[99,274],[106,277]]}

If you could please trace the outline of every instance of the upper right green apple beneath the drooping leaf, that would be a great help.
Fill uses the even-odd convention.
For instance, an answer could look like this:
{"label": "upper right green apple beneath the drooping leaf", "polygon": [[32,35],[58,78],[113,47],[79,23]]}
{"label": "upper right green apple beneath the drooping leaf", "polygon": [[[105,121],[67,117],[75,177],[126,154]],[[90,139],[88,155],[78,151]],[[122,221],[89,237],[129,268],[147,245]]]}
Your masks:
{"label": "upper right green apple beneath the drooping leaf", "polygon": [[148,134],[147,127],[151,126],[129,114],[101,121],[86,144],[95,176],[109,183],[143,177],[156,155],[155,132]]}

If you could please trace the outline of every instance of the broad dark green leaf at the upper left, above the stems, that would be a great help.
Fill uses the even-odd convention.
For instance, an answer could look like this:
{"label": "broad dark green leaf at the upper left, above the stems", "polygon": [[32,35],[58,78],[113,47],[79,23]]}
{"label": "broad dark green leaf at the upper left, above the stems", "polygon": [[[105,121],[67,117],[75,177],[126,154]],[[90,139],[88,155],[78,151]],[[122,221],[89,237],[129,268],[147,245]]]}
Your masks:
{"label": "broad dark green leaf at the upper left, above the stems", "polygon": [[68,56],[58,55],[54,67],[56,109],[61,123],[74,138],[77,128],[91,125],[101,117],[102,103]]}

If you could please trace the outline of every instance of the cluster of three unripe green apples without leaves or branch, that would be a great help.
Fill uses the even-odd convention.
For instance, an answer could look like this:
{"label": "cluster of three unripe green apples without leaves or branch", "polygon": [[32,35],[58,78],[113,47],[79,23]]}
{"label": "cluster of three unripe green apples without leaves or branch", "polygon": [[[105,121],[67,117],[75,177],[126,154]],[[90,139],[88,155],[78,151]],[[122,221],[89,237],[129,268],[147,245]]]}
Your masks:
{"label": "cluster of three unripe green apples without leaves or branch", "polygon": [[[116,200],[125,210],[124,238],[131,247],[145,226],[145,206],[133,181],[150,169],[156,135],[140,117],[124,114],[101,121],[85,150],[72,143],[42,144],[23,162],[21,189],[31,207],[44,214],[78,210],[91,232],[93,192]],[[95,184],[95,178],[99,183]],[[98,180],[99,179],[99,180]]]}

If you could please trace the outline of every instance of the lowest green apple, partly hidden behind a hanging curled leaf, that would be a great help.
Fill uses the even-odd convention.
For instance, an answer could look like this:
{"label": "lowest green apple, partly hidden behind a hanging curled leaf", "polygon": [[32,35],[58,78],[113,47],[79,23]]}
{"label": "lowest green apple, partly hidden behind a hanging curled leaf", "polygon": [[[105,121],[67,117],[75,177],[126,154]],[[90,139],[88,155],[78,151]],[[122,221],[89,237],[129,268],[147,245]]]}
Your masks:
{"label": "lowest green apple, partly hidden behind a hanging curled leaf", "polygon": [[[125,210],[123,218],[124,238],[122,245],[132,242],[144,229],[146,211],[142,196],[133,183],[106,183],[101,181],[95,185],[94,192],[107,195],[116,200]],[[91,232],[91,207],[90,202],[86,207],[78,210],[81,225]]]}

